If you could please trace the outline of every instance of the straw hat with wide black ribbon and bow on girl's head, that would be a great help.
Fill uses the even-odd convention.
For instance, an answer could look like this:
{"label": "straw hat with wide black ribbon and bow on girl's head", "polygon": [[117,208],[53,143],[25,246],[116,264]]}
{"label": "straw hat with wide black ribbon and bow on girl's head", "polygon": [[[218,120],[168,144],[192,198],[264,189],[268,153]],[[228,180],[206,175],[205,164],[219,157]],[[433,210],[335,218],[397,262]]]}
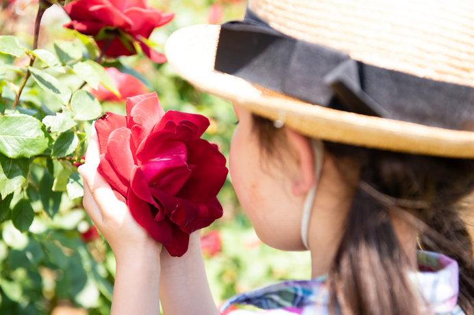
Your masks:
{"label": "straw hat with wide black ribbon and bow on girl's head", "polygon": [[249,0],[243,21],[179,29],[165,51],[303,135],[474,158],[474,1]]}

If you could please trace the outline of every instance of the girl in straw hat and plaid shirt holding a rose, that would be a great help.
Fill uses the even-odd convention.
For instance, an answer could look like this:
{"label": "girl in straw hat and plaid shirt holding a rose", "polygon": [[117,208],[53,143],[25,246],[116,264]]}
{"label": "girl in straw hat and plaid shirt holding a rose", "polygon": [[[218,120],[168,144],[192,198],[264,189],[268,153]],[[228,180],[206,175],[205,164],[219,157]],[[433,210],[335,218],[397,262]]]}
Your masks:
{"label": "girl in straw hat and plaid shirt holding a rose", "polygon": [[[250,0],[181,29],[166,55],[234,102],[229,169],[262,241],[312,279],[238,295],[265,314],[474,314],[470,1]],[[190,53],[192,52],[192,53]],[[219,314],[199,246],[169,256],[86,164],[84,208],[116,256],[113,314]],[[459,266],[459,267],[458,267]],[[254,314],[238,310],[231,314]]]}

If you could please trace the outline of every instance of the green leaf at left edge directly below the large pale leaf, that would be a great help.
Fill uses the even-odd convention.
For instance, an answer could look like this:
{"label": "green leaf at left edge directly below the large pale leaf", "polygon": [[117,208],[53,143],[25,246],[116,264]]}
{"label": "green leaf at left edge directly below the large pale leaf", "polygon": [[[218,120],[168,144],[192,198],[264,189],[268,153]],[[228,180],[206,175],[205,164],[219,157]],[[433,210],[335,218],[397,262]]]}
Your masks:
{"label": "green leaf at left edge directly below the large pale leaf", "polygon": [[3,201],[26,182],[28,170],[28,159],[9,159],[0,154],[0,195]]}

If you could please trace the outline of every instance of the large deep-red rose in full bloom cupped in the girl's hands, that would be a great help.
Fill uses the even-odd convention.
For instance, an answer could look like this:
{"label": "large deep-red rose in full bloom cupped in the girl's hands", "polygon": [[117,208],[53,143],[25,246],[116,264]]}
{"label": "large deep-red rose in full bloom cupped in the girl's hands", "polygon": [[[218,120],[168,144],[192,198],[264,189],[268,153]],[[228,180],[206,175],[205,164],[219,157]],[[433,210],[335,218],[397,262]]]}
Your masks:
{"label": "large deep-red rose in full bloom cupped in the girl's hands", "polygon": [[189,234],[222,215],[216,198],[227,176],[225,157],[200,139],[209,120],[167,111],[155,93],[127,99],[127,115],[105,113],[95,123],[97,168],[134,219],[172,256]]}

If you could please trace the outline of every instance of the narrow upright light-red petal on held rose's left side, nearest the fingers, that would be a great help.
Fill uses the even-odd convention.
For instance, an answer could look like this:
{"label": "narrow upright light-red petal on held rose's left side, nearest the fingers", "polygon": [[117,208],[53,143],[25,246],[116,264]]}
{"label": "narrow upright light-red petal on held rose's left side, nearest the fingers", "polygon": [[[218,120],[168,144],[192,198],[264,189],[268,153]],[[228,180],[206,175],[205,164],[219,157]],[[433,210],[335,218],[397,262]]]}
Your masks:
{"label": "narrow upright light-red petal on held rose's left side, nearest the fingers", "polygon": [[134,170],[134,156],[130,150],[130,130],[121,127],[109,135],[107,141],[107,152],[105,152],[105,159],[107,159],[115,172],[120,174],[125,180],[130,181],[130,176]]}

